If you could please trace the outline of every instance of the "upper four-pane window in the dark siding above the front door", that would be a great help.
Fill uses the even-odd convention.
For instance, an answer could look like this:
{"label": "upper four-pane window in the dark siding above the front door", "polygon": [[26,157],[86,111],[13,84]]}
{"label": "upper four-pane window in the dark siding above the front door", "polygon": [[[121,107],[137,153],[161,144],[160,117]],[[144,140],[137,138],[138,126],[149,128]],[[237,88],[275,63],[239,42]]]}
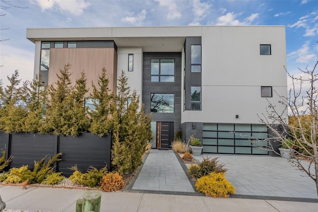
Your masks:
{"label": "upper four-pane window in the dark siding above the front door", "polygon": [[174,82],[174,59],[152,59],[151,81]]}

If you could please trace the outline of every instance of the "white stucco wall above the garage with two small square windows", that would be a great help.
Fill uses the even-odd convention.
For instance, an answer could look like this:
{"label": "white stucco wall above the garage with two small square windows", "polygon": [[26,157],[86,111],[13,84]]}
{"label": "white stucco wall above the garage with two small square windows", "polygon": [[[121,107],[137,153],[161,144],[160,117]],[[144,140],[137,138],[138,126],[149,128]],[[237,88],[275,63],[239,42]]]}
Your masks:
{"label": "white stucco wall above the garage with two small square windows", "polygon": [[[271,44],[271,55],[260,55],[260,44]],[[285,27],[202,27],[202,111],[183,112],[181,123],[259,123],[268,105],[260,86],[273,86],[277,107],[275,91],[287,95],[283,66]]]}

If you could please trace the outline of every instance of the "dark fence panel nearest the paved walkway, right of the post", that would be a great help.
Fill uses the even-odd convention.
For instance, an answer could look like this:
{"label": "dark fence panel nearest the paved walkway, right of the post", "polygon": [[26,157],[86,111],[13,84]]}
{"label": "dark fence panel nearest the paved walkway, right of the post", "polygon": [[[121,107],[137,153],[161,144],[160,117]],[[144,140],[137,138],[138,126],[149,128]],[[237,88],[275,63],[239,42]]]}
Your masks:
{"label": "dark fence panel nearest the paved walkway, right of the post", "polygon": [[59,143],[59,152],[63,155],[58,170],[64,176],[72,175],[73,171],[69,168],[74,165],[81,172],[85,172],[89,166],[101,169],[107,165],[110,169],[111,135],[98,137],[84,133],[78,137],[60,136]]}

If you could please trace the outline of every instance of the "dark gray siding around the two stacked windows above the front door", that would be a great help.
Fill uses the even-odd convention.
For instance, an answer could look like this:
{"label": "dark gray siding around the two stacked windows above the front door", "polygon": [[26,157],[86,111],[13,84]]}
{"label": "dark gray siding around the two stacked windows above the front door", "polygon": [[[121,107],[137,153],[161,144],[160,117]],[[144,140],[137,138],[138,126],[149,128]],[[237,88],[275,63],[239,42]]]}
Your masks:
{"label": "dark gray siding around the two stacked windows above the front door", "polygon": [[[151,59],[174,59],[174,82],[151,82]],[[144,52],[143,55],[143,95],[145,112],[150,113],[151,93],[174,93],[174,113],[152,113],[153,121],[174,122],[174,132],[181,129],[181,53]]]}

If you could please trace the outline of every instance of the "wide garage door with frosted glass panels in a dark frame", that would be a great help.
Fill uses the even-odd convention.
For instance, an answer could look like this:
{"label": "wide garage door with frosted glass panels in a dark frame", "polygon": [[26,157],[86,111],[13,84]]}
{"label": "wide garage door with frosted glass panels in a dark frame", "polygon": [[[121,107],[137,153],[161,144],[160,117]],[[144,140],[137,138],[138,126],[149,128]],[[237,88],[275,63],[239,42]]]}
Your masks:
{"label": "wide garage door with frosted glass panels in a dark frame", "polygon": [[267,135],[265,125],[203,123],[203,152],[268,154]]}

